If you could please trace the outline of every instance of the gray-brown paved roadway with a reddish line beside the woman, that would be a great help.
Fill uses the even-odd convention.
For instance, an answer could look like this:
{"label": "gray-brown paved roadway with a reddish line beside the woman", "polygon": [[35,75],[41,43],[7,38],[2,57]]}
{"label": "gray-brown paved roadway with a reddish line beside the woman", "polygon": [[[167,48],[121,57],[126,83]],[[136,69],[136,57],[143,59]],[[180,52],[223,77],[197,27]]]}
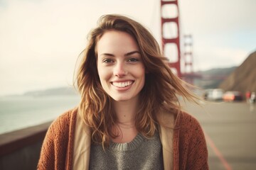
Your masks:
{"label": "gray-brown paved roadway with a reddish line beside the woman", "polygon": [[256,104],[182,105],[198,119],[206,133],[211,170],[256,169]]}

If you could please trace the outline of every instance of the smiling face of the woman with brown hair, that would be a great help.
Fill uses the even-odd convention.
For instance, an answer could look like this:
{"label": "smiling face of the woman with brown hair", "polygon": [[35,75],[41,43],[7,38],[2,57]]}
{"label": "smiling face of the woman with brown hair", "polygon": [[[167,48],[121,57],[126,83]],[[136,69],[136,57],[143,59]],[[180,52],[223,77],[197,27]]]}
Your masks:
{"label": "smiling face of the woman with brown hair", "polygon": [[97,42],[97,71],[106,93],[115,101],[137,98],[145,69],[137,42],[122,31],[109,30]]}

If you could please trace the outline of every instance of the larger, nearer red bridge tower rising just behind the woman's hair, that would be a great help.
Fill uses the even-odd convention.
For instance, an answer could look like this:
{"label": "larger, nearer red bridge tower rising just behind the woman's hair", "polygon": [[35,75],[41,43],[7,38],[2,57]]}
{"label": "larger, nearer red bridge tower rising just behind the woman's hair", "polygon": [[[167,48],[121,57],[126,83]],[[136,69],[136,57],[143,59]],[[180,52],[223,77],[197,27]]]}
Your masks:
{"label": "larger, nearer red bridge tower rising just behind the woman's hair", "polygon": [[161,0],[161,40],[169,67],[181,77],[181,50],[178,23],[178,0]]}

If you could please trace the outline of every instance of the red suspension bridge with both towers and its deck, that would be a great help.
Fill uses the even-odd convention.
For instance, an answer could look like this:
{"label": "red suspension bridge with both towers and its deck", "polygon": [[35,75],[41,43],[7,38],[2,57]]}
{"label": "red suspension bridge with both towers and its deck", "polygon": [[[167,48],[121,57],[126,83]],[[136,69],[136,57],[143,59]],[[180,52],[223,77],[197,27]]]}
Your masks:
{"label": "red suspension bridge with both towers and its deck", "polygon": [[225,79],[224,76],[203,77],[193,72],[193,38],[183,35],[183,52],[181,52],[181,35],[179,24],[178,0],[161,0],[161,42],[164,55],[169,58],[169,67],[181,79],[193,84],[193,79]]}

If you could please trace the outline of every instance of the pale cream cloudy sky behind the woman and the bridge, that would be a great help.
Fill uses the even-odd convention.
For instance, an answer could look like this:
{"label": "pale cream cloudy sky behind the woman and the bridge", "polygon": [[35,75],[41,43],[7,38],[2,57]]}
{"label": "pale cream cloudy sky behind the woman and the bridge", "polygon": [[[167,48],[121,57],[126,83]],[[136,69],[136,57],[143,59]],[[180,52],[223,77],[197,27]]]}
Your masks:
{"label": "pale cream cloudy sky behind the woman and the bridge", "polygon": [[[239,66],[256,51],[255,6],[178,1],[181,38],[193,37],[194,71]],[[0,0],[0,96],[72,86],[87,33],[108,13],[139,21],[161,42],[160,0]]]}

